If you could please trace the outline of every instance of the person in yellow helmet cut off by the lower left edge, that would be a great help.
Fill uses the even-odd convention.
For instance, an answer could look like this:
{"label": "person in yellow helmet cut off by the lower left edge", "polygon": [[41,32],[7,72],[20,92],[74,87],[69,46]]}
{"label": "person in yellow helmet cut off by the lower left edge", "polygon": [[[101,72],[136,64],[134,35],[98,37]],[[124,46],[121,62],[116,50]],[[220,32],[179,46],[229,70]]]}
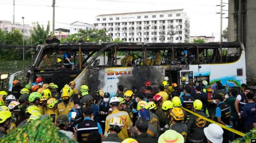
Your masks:
{"label": "person in yellow helmet cut off by the lower left edge", "polygon": [[6,130],[10,128],[12,124],[12,113],[10,111],[0,112],[0,137],[7,135]]}

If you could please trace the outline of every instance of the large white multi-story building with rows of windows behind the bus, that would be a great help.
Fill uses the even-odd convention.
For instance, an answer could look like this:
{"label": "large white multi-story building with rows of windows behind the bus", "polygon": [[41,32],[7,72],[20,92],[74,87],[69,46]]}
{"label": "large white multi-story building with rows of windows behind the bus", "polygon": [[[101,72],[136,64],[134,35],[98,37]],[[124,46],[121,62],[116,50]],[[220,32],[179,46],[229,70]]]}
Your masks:
{"label": "large white multi-story building with rows of windows behind the bus", "polygon": [[189,42],[189,17],[184,9],[102,14],[94,27],[125,42]]}

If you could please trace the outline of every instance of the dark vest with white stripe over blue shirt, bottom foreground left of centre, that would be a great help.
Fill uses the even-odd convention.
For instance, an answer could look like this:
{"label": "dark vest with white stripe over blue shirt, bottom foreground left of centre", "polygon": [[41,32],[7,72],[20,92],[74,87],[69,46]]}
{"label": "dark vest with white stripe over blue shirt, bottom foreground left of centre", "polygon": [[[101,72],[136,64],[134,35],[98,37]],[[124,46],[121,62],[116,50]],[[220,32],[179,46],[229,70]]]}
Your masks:
{"label": "dark vest with white stripe over blue shirt, bottom foreground left of centre", "polygon": [[98,124],[92,120],[84,120],[77,126],[77,141],[79,143],[87,143],[88,135],[91,132],[98,132]]}

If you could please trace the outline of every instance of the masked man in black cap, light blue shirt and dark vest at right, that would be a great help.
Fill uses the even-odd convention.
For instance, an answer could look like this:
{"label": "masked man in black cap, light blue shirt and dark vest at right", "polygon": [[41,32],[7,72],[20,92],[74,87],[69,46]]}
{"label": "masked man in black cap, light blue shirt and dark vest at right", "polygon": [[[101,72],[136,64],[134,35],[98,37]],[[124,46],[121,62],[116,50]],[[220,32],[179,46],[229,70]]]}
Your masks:
{"label": "masked man in black cap, light blue shirt and dark vest at right", "polygon": [[[230,116],[231,116],[231,108],[228,104],[225,104],[223,102],[223,97],[220,94],[217,94],[213,97],[213,103],[217,104],[216,112],[215,112],[215,120],[218,121],[218,123],[223,124],[227,127],[230,126]],[[229,131],[224,129],[223,134],[223,142],[228,143],[229,140]]]}

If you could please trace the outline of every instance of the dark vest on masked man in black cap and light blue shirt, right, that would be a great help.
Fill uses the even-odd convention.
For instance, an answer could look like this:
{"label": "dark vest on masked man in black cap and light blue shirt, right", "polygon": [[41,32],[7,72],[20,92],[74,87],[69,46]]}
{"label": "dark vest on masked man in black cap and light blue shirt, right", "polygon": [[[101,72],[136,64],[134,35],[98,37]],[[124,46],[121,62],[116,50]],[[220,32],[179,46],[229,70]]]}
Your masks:
{"label": "dark vest on masked man in black cap and light blue shirt, right", "polygon": [[230,124],[230,106],[228,104],[220,103],[217,105],[221,109],[221,121],[223,121],[225,124],[229,125]]}

